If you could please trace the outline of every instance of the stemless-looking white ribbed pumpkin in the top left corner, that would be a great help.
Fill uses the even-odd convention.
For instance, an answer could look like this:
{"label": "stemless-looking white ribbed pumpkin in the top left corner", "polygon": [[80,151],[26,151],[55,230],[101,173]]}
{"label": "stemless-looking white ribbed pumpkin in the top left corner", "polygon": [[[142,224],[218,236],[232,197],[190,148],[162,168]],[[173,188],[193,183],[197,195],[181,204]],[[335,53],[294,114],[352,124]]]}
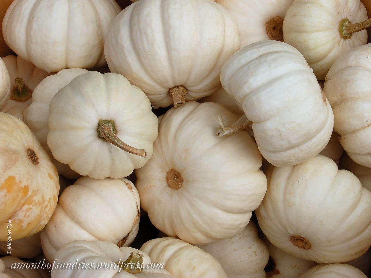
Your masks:
{"label": "stemless-looking white ribbed pumpkin in the top left corner", "polygon": [[120,11],[114,0],[15,0],[3,36],[18,56],[46,72],[102,67],[108,27]]}

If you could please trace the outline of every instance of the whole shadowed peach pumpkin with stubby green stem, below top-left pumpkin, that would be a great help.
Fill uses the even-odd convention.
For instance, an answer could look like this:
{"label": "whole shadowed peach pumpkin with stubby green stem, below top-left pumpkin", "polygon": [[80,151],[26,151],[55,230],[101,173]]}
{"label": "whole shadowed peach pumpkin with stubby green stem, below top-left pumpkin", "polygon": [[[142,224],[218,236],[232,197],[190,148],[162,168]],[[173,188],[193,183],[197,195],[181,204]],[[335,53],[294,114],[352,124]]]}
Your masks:
{"label": "whole shadowed peach pumpkin with stubby green stem, below top-left pumpkin", "polygon": [[10,98],[1,112],[6,112],[23,120],[23,110],[31,104],[33,90],[50,73],[38,69],[19,56],[9,55],[1,59],[3,59],[8,69],[12,84]]}

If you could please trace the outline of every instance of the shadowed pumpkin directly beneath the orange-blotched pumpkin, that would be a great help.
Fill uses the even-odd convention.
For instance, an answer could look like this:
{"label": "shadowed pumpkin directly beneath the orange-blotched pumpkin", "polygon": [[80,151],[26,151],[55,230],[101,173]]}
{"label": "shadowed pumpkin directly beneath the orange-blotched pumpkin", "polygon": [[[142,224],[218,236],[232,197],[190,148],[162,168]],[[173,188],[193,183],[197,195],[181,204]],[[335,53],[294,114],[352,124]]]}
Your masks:
{"label": "shadowed pumpkin directly beneath the orange-blotched pumpkin", "polygon": [[8,249],[7,241],[0,241],[0,255],[2,256],[8,254],[18,258],[33,258],[41,252],[40,232],[27,238],[12,240],[10,249]]}

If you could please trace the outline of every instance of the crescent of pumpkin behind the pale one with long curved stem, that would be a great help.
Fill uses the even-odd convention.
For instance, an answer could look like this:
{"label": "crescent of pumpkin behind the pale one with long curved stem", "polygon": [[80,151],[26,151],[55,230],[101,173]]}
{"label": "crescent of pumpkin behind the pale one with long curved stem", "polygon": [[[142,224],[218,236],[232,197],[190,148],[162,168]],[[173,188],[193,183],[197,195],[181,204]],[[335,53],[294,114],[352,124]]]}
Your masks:
{"label": "crescent of pumpkin behind the pale one with long curved stem", "polygon": [[[56,75],[48,76],[37,85],[32,94],[32,103],[23,111],[24,122],[39,139],[40,144],[52,156],[52,152],[46,143],[49,128],[47,125],[49,118],[49,105],[55,94],[64,86],[68,85],[76,76],[87,73],[85,69],[63,69]],[[68,165],[52,160],[60,175],[70,179],[77,179],[79,174],[72,171]]]}

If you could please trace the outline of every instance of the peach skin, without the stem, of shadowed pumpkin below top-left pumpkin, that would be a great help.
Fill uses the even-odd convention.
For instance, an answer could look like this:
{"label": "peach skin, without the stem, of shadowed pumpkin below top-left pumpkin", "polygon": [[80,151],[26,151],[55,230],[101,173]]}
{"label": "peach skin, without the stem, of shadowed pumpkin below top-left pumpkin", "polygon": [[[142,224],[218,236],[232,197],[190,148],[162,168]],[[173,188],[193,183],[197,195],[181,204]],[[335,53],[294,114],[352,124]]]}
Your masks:
{"label": "peach skin, without the stem, of shadowed pumpkin below top-left pumpkin", "polygon": [[[34,64],[23,60],[21,57],[10,55],[1,59],[3,59],[9,72],[11,90],[14,90],[15,80],[17,77],[24,79],[24,85],[33,92],[36,86],[45,77],[51,75],[44,70],[38,69]],[[32,97],[24,101],[9,99],[5,107],[1,109],[1,112],[11,114],[18,119],[23,120],[23,110],[31,103]]]}

